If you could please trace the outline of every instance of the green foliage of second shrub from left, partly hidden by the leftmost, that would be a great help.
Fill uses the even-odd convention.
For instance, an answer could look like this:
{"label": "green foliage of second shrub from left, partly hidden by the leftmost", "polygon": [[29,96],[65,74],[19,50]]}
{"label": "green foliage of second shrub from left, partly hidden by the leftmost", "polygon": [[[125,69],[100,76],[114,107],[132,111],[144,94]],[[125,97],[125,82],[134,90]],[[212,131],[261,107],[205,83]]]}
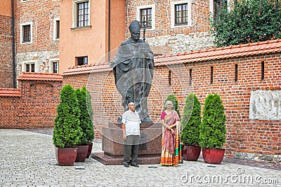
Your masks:
{"label": "green foliage of second shrub from left, partly hidden by the leftmost", "polygon": [[93,132],[93,107],[91,103],[91,95],[88,90],[86,90],[86,87],[83,86],[82,90],[77,88],[75,90],[77,99],[79,102],[79,107],[81,111],[80,115],[80,127],[81,131],[83,132],[83,135],[80,138],[79,145],[84,144],[90,144],[93,141],[94,138],[94,132]]}

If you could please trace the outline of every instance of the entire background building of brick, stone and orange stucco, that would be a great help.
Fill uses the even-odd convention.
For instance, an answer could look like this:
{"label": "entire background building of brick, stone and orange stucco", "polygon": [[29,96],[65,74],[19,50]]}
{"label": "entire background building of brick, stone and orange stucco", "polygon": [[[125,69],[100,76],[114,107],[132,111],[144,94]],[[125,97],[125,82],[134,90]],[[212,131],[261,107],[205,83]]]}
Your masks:
{"label": "entire background building of brick, stone and orange stucco", "polygon": [[15,81],[23,71],[63,73],[112,60],[135,19],[148,22],[146,41],[156,55],[209,48],[209,13],[223,1],[1,0],[1,87],[13,86],[13,68]]}

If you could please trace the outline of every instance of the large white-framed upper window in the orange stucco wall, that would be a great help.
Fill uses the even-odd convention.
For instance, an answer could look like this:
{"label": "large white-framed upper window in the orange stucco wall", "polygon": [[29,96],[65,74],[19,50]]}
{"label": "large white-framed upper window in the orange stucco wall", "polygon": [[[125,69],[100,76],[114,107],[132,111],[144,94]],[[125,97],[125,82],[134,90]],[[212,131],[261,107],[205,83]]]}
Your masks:
{"label": "large white-framed upper window in the orange stucco wall", "polygon": [[90,26],[89,1],[74,0],[74,27]]}

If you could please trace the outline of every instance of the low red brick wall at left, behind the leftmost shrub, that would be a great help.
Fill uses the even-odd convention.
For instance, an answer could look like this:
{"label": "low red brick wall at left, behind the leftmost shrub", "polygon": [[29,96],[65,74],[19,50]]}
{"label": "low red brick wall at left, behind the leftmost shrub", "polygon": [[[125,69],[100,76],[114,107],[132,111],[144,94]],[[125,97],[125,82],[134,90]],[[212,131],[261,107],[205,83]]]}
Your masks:
{"label": "low red brick wall at left, behind the leftmost shrub", "polygon": [[[63,81],[19,80],[18,89],[0,88],[0,128],[54,127]],[[12,95],[20,92],[20,96]]]}

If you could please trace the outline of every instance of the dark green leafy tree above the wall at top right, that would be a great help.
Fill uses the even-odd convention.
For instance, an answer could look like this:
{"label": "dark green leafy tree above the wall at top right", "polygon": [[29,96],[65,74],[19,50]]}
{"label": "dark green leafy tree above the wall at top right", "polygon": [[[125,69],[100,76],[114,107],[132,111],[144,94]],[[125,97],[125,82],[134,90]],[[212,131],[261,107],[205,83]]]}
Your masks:
{"label": "dark green leafy tree above the wall at top right", "polygon": [[241,0],[231,10],[225,6],[216,18],[210,20],[216,46],[280,39],[281,8],[280,2],[276,3]]}

